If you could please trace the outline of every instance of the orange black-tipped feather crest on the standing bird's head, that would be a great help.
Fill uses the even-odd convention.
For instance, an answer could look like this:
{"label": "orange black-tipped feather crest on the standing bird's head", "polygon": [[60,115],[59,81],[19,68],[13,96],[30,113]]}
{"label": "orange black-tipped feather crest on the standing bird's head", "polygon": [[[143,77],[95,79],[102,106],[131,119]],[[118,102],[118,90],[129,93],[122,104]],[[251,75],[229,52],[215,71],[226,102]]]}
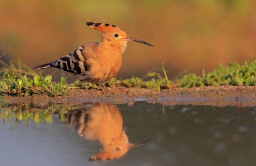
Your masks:
{"label": "orange black-tipped feather crest on the standing bird's head", "polygon": [[117,30],[123,31],[120,28],[116,27],[115,25],[110,25],[110,24],[86,22],[86,25],[101,32],[113,32],[113,31],[115,32]]}

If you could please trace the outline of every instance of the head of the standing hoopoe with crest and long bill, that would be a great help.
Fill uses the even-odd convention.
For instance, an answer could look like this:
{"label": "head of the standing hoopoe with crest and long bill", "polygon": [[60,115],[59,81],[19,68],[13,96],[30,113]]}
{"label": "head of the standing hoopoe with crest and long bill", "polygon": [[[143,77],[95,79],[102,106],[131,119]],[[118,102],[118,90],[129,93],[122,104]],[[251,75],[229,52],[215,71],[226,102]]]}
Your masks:
{"label": "head of the standing hoopoe with crest and long bill", "polygon": [[126,47],[127,41],[135,41],[154,47],[148,42],[127,36],[127,34],[123,30],[116,27],[115,25],[92,22],[86,22],[86,25],[102,32],[104,41],[108,42],[109,44],[123,44]]}

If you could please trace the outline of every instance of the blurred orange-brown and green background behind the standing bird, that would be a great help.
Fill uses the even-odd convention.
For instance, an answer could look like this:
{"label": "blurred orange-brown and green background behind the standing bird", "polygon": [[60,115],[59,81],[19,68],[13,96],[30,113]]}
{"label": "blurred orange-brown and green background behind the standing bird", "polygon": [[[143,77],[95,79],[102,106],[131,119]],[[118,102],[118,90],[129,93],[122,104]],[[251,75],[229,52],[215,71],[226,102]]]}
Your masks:
{"label": "blurred orange-brown and green background behind the standing bird", "polygon": [[0,20],[0,52],[30,67],[99,41],[86,21],[116,25],[155,46],[128,42],[118,78],[143,76],[163,61],[170,77],[196,66],[191,72],[201,75],[256,56],[255,0],[0,0]]}

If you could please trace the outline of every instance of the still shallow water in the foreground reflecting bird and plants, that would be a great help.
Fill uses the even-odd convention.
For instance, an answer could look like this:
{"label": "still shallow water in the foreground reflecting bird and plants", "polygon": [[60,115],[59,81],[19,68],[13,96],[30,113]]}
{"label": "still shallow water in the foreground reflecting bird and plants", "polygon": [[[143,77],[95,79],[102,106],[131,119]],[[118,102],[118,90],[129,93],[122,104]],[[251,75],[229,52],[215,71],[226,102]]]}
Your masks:
{"label": "still shallow water in the foreground reflecting bird and plants", "polygon": [[[145,102],[135,102],[132,106],[120,104],[116,107],[86,103],[73,107],[72,113],[70,107],[25,105],[1,109],[4,123],[0,122],[0,165],[256,165],[254,107],[177,105],[163,108],[161,104]],[[50,122],[49,115],[53,107],[55,113]],[[62,116],[59,111],[62,111]],[[77,121],[76,117],[71,116],[75,111]],[[19,120],[20,112],[23,113],[22,120]],[[29,118],[27,126],[23,120],[25,115],[29,115],[26,114],[28,112],[34,118],[37,114],[41,118],[40,122],[36,124],[35,119]],[[13,114],[12,118],[10,114]],[[89,116],[86,118],[87,114]],[[21,123],[16,122],[14,126],[15,116]],[[62,121],[65,116],[67,122]],[[49,122],[42,122],[45,117]],[[76,132],[72,127],[82,132]],[[126,143],[119,135],[122,128],[129,138]],[[97,140],[91,140],[92,137]],[[127,152],[122,152],[124,155],[118,156],[120,154],[117,153],[121,153],[128,143],[143,142],[151,138],[154,140],[130,148]],[[114,159],[104,160],[106,155],[103,155],[101,159],[104,161],[88,161],[101,153],[99,149],[108,152],[107,155]]]}

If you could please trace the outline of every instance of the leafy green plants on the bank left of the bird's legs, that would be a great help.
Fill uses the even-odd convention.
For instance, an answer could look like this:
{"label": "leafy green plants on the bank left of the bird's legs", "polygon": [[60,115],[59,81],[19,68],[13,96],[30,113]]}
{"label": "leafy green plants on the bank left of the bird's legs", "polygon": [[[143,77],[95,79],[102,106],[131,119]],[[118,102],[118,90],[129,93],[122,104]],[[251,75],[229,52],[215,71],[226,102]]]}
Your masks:
{"label": "leafy green plants on the bank left of the bird's legs", "polygon": [[[1,55],[3,56],[3,55]],[[0,57],[1,57],[0,56]],[[33,94],[48,94],[57,96],[66,93],[65,84],[67,77],[60,77],[60,82],[52,82],[52,76],[39,76],[32,69],[23,65],[21,60],[14,62],[11,60],[9,64],[0,60],[4,65],[0,73],[0,92],[12,96],[30,96]],[[69,86],[69,88],[72,88]]]}

